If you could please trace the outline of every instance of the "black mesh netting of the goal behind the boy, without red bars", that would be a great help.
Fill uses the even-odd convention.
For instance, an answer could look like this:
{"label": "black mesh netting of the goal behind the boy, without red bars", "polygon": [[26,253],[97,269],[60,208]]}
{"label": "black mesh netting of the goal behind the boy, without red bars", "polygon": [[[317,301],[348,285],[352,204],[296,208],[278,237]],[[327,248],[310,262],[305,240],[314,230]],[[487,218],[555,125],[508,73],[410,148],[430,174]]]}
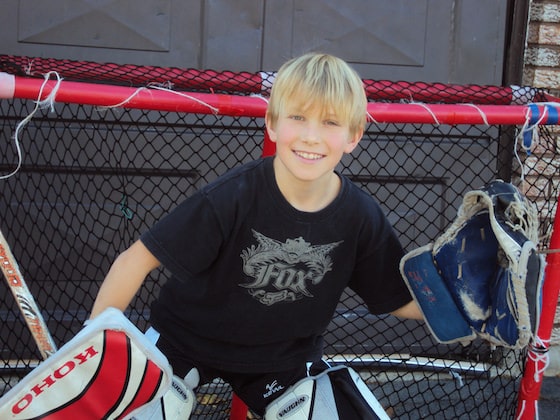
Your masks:
{"label": "black mesh netting of the goal behind the boy, without red bars", "polygon": [[[14,57],[2,56],[0,62],[3,71],[24,68]],[[61,65],[70,71],[77,63],[47,60],[36,72]],[[154,81],[141,69],[135,67],[138,83]],[[131,77],[129,71],[109,66],[88,81],[123,82],[119,77]],[[84,71],[80,74],[84,79]],[[449,92],[438,97],[435,86],[422,89],[436,102],[443,101]],[[16,168],[12,137],[33,107],[32,101],[18,99],[0,103],[0,175]],[[0,227],[57,346],[81,328],[116,255],[195,189],[261,156],[263,134],[259,118],[61,103],[54,105],[54,112],[35,115],[19,138],[21,168],[0,181]],[[340,171],[378,199],[411,250],[441,234],[468,190],[494,178],[517,182],[517,134],[518,128],[509,126],[372,123]],[[557,186],[543,182],[546,174],[558,171],[550,127],[539,127],[538,148],[539,154],[520,158],[529,170],[529,196],[543,216],[543,249],[558,196]],[[163,272],[151,276],[127,312],[140,329],[146,327],[149,304],[163,277]],[[1,395],[41,356],[5,282],[0,282],[0,299]],[[326,357],[358,370],[396,418],[515,414],[524,352],[478,341],[469,346],[438,344],[419,322],[370,315],[350,292],[333,317],[326,342]],[[227,418],[230,400],[226,384],[205,386],[199,393],[198,417]]]}

